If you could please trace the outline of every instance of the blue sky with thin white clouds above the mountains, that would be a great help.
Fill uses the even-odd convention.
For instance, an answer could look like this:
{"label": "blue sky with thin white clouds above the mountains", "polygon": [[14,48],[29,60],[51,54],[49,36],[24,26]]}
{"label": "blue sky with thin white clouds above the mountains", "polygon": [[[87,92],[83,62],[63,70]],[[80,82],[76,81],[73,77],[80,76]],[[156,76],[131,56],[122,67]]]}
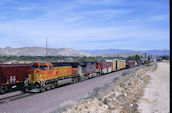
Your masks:
{"label": "blue sky with thin white clouds above the mountains", "polygon": [[169,0],[0,0],[0,48],[169,49]]}

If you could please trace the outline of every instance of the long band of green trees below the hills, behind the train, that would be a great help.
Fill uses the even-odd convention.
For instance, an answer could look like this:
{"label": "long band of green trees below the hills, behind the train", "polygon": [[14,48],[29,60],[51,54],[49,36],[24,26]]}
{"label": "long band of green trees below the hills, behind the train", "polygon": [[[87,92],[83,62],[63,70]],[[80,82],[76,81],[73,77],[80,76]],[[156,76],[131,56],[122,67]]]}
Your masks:
{"label": "long band of green trees below the hills, behind the train", "polygon": [[[113,60],[113,59],[121,59],[121,60],[134,60],[134,61],[140,61],[141,56],[135,55],[135,56],[128,56],[126,58],[124,57],[75,57],[75,56],[0,56],[0,63],[8,62],[8,61],[69,61],[69,62],[96,62],[96,61],[105,61],[105,60]],[[159,58],[162,58],[162,60],[169,60],[170,57],[168,55],[159,56]],[[150,60],[150,57],[149,59]]]}

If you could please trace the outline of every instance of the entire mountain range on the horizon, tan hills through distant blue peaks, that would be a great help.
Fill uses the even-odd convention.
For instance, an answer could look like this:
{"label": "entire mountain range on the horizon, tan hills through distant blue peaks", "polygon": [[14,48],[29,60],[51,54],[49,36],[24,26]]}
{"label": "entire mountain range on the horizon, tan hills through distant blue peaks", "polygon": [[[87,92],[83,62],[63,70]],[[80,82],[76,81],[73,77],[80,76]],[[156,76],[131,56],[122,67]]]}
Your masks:
{"label": "entire mountain range on the horizon, tan hills through distant blue peaks", "polygon": [[[148,53],[152,55],[169,55],[169,50],[123,50],[123,49],[106,49],[106,50],[75,50],[72,48],[48,48],[48,56],[103,56],[103,57],[128,57]],[[22,47],[22,48],[0,48],[0,56],[45,56],[46,48],[43,47]]]}

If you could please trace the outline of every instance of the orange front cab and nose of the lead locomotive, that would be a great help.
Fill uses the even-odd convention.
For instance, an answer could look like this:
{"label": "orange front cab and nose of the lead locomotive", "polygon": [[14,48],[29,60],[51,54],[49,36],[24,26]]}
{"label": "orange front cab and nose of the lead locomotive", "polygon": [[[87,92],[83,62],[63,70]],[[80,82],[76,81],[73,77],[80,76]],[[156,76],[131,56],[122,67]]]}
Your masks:
{"label": "orange front cab and nose of the lead locomotive", "polygon": [[31,90],[31,92],[39,92],[33,90],[44,90],[47,77],[52,77],[55,75],[55,70],[51,63],[38,62],[33,64],[33,69],[29,70],[28,78],[25,80],[26,91]]}

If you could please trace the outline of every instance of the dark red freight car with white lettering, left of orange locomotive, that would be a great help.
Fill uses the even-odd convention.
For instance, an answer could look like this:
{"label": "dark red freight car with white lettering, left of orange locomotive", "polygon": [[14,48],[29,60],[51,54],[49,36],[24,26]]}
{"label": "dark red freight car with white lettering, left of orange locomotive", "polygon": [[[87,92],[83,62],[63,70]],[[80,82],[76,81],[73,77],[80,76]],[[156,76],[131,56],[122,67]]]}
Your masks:
{"label": "dark red freight car with white lettering, left of orange locomotive", "polygon": [[20,89],[32,64],[0,64],[0,93]]}

